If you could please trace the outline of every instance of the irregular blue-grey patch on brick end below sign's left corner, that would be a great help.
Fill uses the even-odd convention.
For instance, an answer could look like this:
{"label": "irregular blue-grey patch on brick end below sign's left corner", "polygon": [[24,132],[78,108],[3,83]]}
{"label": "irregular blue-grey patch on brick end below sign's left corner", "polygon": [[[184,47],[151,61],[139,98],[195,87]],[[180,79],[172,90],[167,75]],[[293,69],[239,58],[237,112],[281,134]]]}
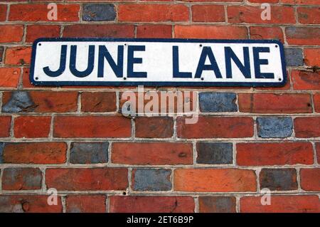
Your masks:
{"label": "irregular blue-grey patch on brick end below sign's left corner", "polygon": [[15,91],[5,105],[2,106],[2,112],[32,112],[34,103],[28,92]]}

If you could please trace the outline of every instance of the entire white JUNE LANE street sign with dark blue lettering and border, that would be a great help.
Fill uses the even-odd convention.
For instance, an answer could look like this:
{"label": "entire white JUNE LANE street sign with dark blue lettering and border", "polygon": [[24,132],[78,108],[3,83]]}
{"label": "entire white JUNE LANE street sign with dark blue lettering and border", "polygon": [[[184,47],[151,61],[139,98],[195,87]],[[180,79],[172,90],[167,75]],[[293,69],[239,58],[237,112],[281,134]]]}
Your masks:
{"label": "entire white JUNE LANE street sign with dark blue lettering and border", "polygon": [[279,41],[41,38],[33,43],[34,85],[282,86]]}

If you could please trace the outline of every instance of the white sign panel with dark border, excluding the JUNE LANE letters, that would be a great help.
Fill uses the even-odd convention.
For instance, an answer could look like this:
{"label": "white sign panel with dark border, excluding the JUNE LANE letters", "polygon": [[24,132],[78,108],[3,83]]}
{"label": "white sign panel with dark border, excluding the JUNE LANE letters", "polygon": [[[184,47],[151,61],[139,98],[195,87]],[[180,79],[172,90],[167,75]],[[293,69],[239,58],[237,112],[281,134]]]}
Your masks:
{"label": "white sign panel with dark border, excluding the JUNE LANE letters", "polygon": [[[65,71],[58,77],[50,77],[43,68],[58,70],[61,46],[68,46]],[[104,77],[97,77],[99,46],[105,46],[117,63],[118,46],[124,46],[123,78],[117,78],[107,60]],[[88,63],[89,46],[95,46],[95,67],[90,75],[78,78],[69,69],[70,46],[77,46],[76,68],[85,70]],[[147,78],[127,78],[128,46],[145,46],[145,51],[135,51],[134,58],[142,58],[142,63],[134,63],[134,72],[146,72]],[[173,46],[178,46],[178,68],[180,72],[191,72],[192,78],[173,77]],[[201,78],[194,78],[201,51],[210,46],[223,78],[217,78],[213,70],[203,70]],[[243,64],[243,47],[249,48],[251,78],[245,78],[231,60],[232,78],[226,78],[225,47],[232,48]],[[274,78],[255,78],[253,47],[268,47],[270,53],[260,53],[268,65],[260,65],[261,73],[274,73]],[[210,64],[206,58],[206,64]],[[125,79],[124,79],[125,78]],[[187,85],[187,86],[280,86],[286,82],[283,46],[279,41],[231,41],[231,40],[181,40],[181,39],[95,39],[95,38],[42,38],[33,43],[31,83],[35,85]]]}

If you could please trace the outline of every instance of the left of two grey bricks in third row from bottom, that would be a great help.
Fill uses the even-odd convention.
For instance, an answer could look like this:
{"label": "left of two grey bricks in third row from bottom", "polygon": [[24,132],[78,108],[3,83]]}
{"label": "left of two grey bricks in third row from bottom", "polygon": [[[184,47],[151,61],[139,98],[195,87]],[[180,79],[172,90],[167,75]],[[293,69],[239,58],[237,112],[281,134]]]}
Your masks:
{"label": "left of two grey bricks in third row from bottom", "polygon": [[70,163],[107,163],[108,147],[109,142],[73,142],[70,147]]}

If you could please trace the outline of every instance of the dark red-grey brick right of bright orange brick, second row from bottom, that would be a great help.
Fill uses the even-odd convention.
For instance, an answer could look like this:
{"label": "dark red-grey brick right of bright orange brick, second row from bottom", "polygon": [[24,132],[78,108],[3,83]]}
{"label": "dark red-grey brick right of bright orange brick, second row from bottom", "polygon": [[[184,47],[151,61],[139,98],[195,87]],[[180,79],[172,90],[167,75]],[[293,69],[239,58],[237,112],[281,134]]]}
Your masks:
{"label": "dark red-grey brick right of bright orange brick, second row from bottom", "polygon": [[260,189],[271,191],[297,190],[296,169],[262,169],[260,171]]}

